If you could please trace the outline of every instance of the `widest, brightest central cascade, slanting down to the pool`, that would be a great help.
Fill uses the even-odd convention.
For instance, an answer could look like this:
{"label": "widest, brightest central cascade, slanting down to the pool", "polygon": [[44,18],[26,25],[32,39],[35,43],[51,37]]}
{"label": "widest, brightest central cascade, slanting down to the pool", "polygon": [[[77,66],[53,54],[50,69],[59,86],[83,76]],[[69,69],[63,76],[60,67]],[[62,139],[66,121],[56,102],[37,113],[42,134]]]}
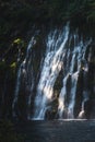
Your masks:
{"label": "widest, brightest central cascade, slanting down to the pool", "polygon": [[48,37],[49,40],[47,43],[47,54],[35,98],[34,119],[44,119],[46,110],[49,109],[47,104],[49,104],[52,99],[54,85],[62,68],[62,60],[66,54],[66,43],[68,40],[68,36],[69,25],[64,27],[63,33],[59,34],[57,42],[55,42],[56,32],[51,37],[50,35]]}

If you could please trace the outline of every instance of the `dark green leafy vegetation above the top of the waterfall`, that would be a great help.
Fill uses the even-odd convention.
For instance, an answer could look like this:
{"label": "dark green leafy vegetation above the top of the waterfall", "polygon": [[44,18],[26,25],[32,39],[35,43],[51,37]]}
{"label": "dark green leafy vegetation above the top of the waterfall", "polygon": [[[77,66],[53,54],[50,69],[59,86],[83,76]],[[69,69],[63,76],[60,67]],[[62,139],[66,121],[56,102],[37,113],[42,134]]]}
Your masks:
{"label": "dark green leafy vegetation above the top of the waterfall", "polygon": [[[0,58],[15,39],[26,43],[32,25],[74,23],[95,24],[94,0],[11,0],[0,3]],[[16,40],[15,40],[16,42]],[[14,42],[14,43],[15,43]]]}

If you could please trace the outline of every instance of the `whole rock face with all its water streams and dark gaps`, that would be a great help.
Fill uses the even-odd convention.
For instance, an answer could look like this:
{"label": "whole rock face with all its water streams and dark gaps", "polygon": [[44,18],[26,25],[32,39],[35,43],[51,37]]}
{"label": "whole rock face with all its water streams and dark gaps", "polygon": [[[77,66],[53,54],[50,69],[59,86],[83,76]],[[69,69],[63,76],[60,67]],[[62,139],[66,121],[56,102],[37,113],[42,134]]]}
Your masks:
{"label": "whole rock face with all its water streams and dark gaps", "polygon": [[78,31],[35,31],[17,72],[14,118],[94,118],[94,39]]}

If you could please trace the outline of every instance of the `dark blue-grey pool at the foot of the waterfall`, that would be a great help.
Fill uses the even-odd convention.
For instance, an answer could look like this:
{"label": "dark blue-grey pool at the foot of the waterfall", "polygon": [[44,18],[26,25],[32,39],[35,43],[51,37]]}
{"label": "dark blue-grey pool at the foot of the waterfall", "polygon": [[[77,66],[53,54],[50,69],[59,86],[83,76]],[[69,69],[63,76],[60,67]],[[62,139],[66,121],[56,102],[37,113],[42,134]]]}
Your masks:
{"label": "dark blue-grey pool at the foot of the waterfall", "polygon": [[95,142],[95,120],[33,120],[15,122],[24,142]]}

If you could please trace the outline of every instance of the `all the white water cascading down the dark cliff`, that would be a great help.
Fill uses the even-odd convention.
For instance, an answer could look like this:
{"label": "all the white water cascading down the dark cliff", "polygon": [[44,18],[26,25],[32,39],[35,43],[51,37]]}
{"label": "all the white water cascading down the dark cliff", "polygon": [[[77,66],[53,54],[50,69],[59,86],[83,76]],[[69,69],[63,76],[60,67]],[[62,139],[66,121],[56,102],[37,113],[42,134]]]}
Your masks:
{"label": "all the white water cascading down the dark cliff", "polygon": [[[38,84],[35,83],[32,55],[33,46],[36,44],[35,37],[32,38],[26,58],[21,63],[13,100],[14,116],[20,87],[24,84],[26,90],[28,87],[27,96],[24,96],[28,109],[27,119],[48,119],[54,111],[55,115],[51,118],[84,118],[84,105],[90,99],[91,92],[87,83],[91,55],[86,52],[92,39],[83,39],[78,32],[71,33],[68,23],[62,31],[51,31],[45,40],[46,54],[40,59],[39,70],[37,71],[39,75],[36,75],[36,78],[38,76],[36,82]],[[60,74],[61,79],[59,80]],[[57,82],[61,82],[61,87],[56,84]],[[35,86],[36,92],[33,93]],[[59,87],[57,93],[55,86]],[[79,90],[81,91],[79,92]],[[35,95],[32,100],[33,94]],[[54,104],[56,104],[56,107],[52,107]],[[32,114],[31,109],[33,109]]]}

